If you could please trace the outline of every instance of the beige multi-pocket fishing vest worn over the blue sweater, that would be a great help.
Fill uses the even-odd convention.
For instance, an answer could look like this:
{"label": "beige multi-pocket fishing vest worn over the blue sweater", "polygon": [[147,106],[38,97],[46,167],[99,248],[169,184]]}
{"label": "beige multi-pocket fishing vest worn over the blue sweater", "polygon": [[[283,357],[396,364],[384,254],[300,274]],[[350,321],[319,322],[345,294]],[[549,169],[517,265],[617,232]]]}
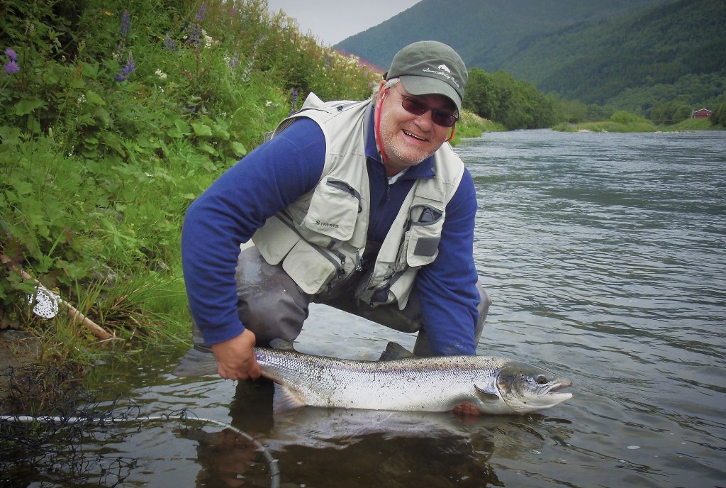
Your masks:
{"label": "beige multi-pocket fishing vest worn over the blue sweater", "polygon": [[[322,102],[307,97],[298,113],[285,119],[267,139],[301,117],[325,134],[325,166],[317,186],[274,216],[252,237],[261,256],[282,269],[309,295],[334,293],[336,285],[360,271],[370,217],[370,183],[365,134],[370,100]],[[431,179],[417,179],[381,244],[375,264],[356,298],[370,306],[406,306],[418,269],[439,254],[449,203],[464,174],[451,146],[433,155]]]}

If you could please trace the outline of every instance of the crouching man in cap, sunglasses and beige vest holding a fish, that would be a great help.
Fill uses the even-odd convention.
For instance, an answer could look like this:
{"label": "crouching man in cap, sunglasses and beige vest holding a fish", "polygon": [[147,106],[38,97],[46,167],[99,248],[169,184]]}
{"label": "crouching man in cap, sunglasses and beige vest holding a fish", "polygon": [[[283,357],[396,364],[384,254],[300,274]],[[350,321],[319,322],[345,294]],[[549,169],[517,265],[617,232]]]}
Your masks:
{"label": "crouching man in cap, sunglasses and beige vest holding a fish", "polygon": [[[189,306],[222,378],[293,341],[311,301],[474,354],[490,300],[473,263],[473,180],[452,148],[468,73],[452,48],[396,54],[370,100],[311,95],[184,220]],[[242,252],[240,252],[240,243]]]}

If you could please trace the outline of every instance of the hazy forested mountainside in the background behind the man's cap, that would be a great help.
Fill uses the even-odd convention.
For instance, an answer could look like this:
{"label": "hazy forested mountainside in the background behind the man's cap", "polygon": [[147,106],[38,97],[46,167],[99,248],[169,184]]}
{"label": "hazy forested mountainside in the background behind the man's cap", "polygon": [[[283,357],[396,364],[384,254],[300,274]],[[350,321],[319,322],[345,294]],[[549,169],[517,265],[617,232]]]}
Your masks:
{"label": "hazy forested mountainside in the background behind the man's cap", "polygon": [[434,38],[470,68],[646,113],[726,101],[725,26],[724,0],[423,0],[338,47],[385,67],[398,46]]}

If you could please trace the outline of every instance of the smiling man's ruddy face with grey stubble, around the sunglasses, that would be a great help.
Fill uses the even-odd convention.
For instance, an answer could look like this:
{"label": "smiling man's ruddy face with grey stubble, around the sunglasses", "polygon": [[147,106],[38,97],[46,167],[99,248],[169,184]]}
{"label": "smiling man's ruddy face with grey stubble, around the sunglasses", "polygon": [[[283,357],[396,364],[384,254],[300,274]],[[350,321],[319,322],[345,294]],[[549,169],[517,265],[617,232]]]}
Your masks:
{"label": "smiling man's ruddy face with grey stubble, around the sunglasses", "polygon": [[444,95],[431,94],[414,96],[409,94],[401,82],[397,83],[383,98],[383,81],[378,93],[380,114],[380,140],[386,153],[386,172],[396,174],[409,166],[415,166],[431,156],[441,147],[451,133],[450,127],[439,126],[431,120],[431,110],[423,115],[414,115],[401,106],[404,97],[417,99],[433,110],[456,113],[454,102]]}

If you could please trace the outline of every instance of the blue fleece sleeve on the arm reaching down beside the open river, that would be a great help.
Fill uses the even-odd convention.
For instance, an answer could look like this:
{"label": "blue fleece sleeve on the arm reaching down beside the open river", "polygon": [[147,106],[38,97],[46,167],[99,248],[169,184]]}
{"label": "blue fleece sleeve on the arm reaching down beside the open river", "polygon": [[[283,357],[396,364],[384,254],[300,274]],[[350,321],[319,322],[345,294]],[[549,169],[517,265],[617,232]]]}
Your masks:
{"label": "blue fleece sleeve on the arm reaching down beside the open river", "polygon": [[423,267],[416,280],[423,328],[433,354],[475,354],[478,280],[473,258],[476,191],[465,171],[446,206],[439,256]]}

